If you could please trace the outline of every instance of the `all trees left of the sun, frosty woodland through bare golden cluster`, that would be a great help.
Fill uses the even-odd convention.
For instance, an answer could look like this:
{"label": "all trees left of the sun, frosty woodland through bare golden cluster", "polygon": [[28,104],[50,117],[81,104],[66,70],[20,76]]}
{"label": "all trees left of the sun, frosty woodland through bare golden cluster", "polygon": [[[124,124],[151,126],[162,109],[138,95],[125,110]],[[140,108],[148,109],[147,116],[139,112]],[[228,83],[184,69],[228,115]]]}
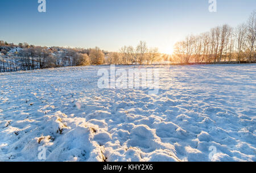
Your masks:
{"label": "all trees left of the sun, frosty woodland through bare golden cluster", "polygon": [[0,72],[35,70],[61,66],[102,64],[152,64],[159,60],[158,48],[147,48],[140,41],[137,47],[122,47],[119,52],[107,52],[100,48],[40,47],[27,43],[0,41]]}

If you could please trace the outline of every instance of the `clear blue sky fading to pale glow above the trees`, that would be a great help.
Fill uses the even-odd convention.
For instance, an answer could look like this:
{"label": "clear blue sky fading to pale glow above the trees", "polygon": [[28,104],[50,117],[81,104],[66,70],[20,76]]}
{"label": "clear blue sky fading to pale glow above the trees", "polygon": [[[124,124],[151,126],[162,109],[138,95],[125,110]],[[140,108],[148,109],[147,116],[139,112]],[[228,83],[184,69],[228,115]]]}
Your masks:
{"label": "clear blue sky fading to pale glow above the trees", "polygon": [[0,1],[0,40],[18,44],[95,47],[116,51],[146,41],[168,53],[190,33],[227,23],[236,27],[256,9],[255,0],[38,0]]}

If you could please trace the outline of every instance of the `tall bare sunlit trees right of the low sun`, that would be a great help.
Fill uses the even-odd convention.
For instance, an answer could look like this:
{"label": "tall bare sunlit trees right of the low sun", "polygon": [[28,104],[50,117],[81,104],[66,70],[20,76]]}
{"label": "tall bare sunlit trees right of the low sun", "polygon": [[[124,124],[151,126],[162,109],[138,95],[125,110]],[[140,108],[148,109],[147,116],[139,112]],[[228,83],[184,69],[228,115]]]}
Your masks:
{"label": "tall bare sunlit trees right of the low sun", "polygon": [[255,39],[256,11],[247,23],[236,28],[224,24],[200,35],[185,37],[175,44],[173,61],[180,64],[255,62]]}

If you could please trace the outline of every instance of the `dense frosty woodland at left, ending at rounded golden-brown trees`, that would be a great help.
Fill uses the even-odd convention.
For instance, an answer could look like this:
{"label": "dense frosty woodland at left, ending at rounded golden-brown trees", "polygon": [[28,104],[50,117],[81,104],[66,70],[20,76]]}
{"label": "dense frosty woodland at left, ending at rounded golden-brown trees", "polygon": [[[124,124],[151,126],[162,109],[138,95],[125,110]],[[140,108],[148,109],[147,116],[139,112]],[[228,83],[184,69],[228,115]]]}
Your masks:
{"label": "dense frosty woodland at left, ending at rounded golden-brown trees", "polygon": [[105,62],[105,51],[100,48],[40,47],[0,41],[0,72],[35,70],[61,66],[100,65]]}

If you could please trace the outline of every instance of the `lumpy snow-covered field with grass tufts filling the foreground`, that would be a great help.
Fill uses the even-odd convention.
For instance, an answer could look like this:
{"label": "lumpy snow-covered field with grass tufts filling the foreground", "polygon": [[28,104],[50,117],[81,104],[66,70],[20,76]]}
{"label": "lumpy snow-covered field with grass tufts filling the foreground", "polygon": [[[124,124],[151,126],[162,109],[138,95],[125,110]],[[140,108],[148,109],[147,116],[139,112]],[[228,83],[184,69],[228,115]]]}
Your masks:
{"label": "lumpy snow-covered field with grass tufts filling the foreground", "polygon": [[256,161],[256,64],[157,67],[157,95],[102,66],[0,74],[0,161]]}

